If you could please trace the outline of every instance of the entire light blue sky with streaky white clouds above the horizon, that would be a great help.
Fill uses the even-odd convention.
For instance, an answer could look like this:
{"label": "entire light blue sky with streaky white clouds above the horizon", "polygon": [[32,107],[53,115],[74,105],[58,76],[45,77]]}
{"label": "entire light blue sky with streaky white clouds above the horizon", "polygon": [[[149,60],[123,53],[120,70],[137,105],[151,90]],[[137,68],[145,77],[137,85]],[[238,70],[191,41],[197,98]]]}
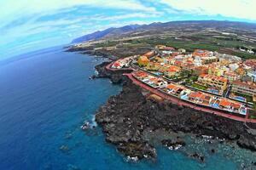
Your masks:
{"label": "entire light blue sky with streaky white clouds above the horizon", "polygon": [[109,27],[173,20],[256,23],[256,0],[0,0],[0,60]]}

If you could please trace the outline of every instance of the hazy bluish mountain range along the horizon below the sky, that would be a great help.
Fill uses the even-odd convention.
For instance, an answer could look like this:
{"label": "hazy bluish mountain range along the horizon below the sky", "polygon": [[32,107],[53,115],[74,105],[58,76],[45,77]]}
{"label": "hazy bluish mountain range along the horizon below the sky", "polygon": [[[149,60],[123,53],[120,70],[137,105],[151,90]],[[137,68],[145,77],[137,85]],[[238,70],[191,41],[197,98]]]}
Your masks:
{"label": "hazy bluish mountain range along the horizon below the sky", "polygon": [[219,20],[185,20],[170,21],[166,23],[154,22],[148,25],[129,25],[122,27],[111,27],[103,31],[96,31],[82,37],[73,39],[72,43],[100,40],[113,37],[133,37],[160,34],[162,32],[195,32],[195,31],[227,31],[236,34],[245,34],[256,37],[256,24],[219,21]]}

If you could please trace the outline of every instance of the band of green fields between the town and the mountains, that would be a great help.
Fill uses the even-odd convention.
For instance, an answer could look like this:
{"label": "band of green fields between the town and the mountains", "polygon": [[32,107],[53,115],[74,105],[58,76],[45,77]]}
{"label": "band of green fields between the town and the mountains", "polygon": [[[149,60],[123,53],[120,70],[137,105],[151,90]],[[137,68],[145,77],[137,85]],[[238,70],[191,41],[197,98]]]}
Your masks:
{"label": "band of green fields between the town and the mountains", "polygon": [[[120,42],[124,42],[119,46]],[[219,51],[220,53],[233,54],[243,59],[255,59],[255,54],[248,54],[239,51],[239,47],[256,48],[255,43],[241,41],[234,36],[214,36],[208,34],[193,34],[181,38],[171,37],[170,35],[161,37],[141,37],[138,39],[130,39],[124,41],[100,42],[95,45],[95,48],[106,48],[116,46],[118,48],[154,48],[155,45],[166,45],[173,48],[185,48],[187,52],[193,52],[195,49],[207,49],[210,51]]]}

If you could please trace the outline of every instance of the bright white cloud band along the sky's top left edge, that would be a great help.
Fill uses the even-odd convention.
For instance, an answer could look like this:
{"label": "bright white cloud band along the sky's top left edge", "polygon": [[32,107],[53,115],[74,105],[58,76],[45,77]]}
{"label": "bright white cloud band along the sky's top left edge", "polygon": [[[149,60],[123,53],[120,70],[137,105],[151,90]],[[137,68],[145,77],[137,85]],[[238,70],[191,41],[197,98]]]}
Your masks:
{"label": "bright white cloud band along the sky's top left edge", "polygon": [[140,10],[154,12],[154,7],[146,7],[139,1],[135,0],[9,0],[0,1],[1,18],[19,17],[24,14],[49,14],[58,10],[68,10],[76,6],[84,5],[94,8],[119,8],[128,10]]}

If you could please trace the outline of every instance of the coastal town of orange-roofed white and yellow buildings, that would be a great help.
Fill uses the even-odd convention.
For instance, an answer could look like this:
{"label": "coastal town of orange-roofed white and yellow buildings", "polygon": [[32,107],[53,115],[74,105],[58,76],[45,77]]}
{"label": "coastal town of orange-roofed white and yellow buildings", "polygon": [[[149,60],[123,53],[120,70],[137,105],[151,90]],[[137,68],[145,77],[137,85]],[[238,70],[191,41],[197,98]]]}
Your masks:
{"label": "coastal town of orange-roofed white and yellow buildings", "polygon": [[109,68],[132,69],[132,78],[143,87],[201,111],[246,121],[256,118],[256,59],[157,45],[146,54],[118,59]]}

